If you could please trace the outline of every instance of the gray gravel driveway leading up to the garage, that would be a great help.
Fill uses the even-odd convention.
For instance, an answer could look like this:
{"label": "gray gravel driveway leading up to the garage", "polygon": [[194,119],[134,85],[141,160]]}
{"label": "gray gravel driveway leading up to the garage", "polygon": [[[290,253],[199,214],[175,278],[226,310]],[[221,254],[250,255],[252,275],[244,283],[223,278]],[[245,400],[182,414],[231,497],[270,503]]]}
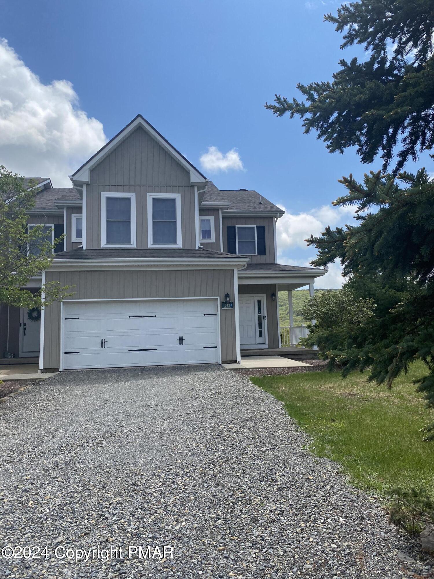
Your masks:
{"label": "gray gravel driveway leading up to the garage", "polygon": [[[3,404],[0,432],[0,546],[47,546],[47,558],[0,559],[2,578],[424,573],[399,560],[415,546],[376,501],[237,372],[64,372]],[[128,558],[130,545],[174,558]],[[62,558],[91,547],[122,547],[123,560]]]}

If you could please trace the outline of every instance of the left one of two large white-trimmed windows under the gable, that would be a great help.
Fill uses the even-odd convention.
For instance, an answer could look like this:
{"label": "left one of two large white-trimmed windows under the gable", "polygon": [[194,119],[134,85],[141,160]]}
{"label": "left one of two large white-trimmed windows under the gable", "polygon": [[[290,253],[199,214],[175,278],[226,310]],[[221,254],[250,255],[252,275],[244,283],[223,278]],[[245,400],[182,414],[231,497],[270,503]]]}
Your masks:
{"label": "left one of two large white-trimmed windows under the gable", "polygon": [[101,247],[136,247],[135,193],[101,193]]}

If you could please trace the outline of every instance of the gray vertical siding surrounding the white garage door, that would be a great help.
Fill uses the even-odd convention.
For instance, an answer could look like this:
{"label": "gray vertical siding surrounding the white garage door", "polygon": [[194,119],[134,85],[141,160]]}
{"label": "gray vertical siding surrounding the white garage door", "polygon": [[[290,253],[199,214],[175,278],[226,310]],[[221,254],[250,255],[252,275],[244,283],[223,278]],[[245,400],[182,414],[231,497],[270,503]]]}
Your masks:
{"label": "gray vertical siding surrounding the white garage door", "polygon": [[[71,299],[204,298],[234,295],[233,269],[47,271],[46,282],[73,286]],[[220,309],[222,361],[235,361],[235,309]],[[60,367],[60,302],[45,310],[43,368]]]}

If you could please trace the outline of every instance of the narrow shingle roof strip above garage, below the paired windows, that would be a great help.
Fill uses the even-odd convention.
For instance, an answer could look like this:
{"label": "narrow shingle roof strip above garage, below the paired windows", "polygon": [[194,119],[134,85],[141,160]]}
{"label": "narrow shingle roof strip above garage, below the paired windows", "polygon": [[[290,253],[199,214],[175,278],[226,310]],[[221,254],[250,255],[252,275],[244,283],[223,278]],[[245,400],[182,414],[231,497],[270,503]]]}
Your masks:
{"label": "narrow shingle roof strip above garage, below the paired windows", "polygon": [[183,250],[158,248],[158,249],[136,249],[136,248],[103,248],[96,250],[71,250],[61,251],[54,254],[56,259],[221,259],[221,258],[236,258],[239,257],[233,254],[221,253],[220,251],[212,250]]}

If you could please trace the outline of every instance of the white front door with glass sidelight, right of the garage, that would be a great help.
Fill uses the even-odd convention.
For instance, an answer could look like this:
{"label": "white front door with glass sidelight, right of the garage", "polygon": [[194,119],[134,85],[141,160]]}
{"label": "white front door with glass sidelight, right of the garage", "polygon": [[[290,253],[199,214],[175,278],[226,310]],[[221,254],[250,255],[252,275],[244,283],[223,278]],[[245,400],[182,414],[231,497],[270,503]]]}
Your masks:
{"label": "white front door with glass sidelight, right of the garage", "polygon": [[267,343],[265,296],[238,296],[241,346],[264,346]]}

